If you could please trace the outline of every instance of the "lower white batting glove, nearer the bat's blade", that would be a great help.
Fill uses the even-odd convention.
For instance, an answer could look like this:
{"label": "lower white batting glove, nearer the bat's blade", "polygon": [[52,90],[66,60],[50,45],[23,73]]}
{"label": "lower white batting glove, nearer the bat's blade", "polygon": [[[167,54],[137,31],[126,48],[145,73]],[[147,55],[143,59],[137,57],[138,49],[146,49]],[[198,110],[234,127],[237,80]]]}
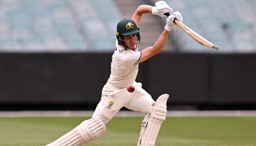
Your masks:
{"label": "lower white batting glove, nearer the bat's blade", "polygon": [[180,14],[179,11],[176,11],[173,14],[171,14],[166,20],[165,29],[167,31],[171,31],[172,28],[173,30],[177,30],[178,28],[180,28],[180,26],[173,22],[174,18],[177,19],[179,22],[182,22],[183,20],[182,15]]}

